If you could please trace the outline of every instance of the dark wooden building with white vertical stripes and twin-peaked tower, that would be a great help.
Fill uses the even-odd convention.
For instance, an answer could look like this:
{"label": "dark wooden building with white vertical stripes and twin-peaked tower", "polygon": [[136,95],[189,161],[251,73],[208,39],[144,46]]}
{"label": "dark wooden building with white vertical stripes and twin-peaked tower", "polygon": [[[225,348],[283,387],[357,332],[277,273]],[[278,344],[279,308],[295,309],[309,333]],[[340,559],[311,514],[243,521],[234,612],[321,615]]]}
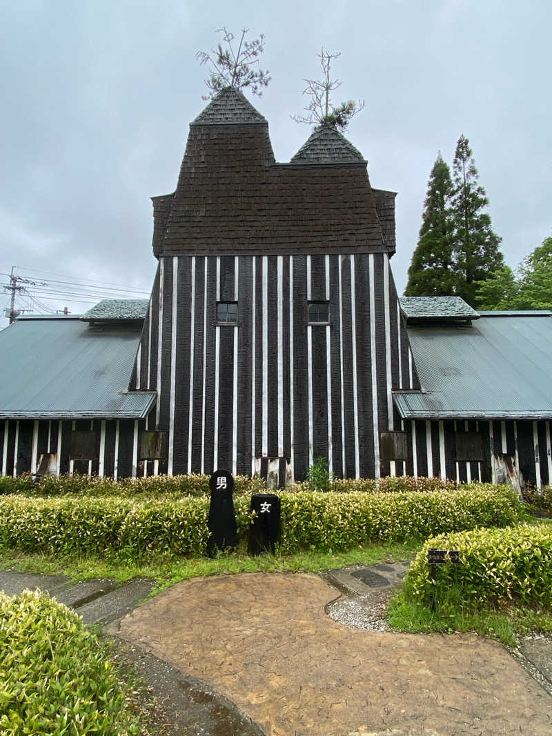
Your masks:
{"label": "dark wooden building with white vertical stripes and twin-peaked tower", "polygon": [[[77,322],[116,380],[96,367],[96,403],[44,400],[40,381],[0,394],[1,472],[226,467],[282,485],[322,456],[350,478],[551,481],[550,314],[400,300],[394,197],[333,127],[277,163],[266,120],[224,89],[191,123],[174,193],[153,198],[149,304],[104,302]],[[0,347],[49,324],[18,322]],[[56,365],[45,375],[67,386],[71,365]]]}

